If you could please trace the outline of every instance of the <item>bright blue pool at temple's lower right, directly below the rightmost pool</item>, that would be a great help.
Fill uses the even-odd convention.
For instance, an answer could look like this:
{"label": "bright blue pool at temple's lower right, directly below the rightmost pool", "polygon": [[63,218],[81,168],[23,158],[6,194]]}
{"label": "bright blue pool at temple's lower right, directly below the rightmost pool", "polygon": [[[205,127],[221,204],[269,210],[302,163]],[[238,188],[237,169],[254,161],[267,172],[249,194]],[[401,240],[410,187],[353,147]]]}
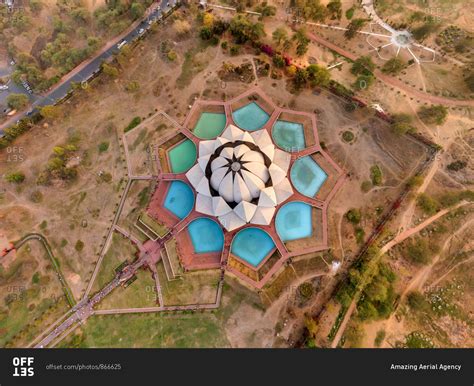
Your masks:
{"label": "bright blue pool at temple's lower right, directly below the rightmost pool", "polygon": [[275,225],[282,241],[304,239],[313,233],[310,205],[304,202],[290,202],[278,211]]}

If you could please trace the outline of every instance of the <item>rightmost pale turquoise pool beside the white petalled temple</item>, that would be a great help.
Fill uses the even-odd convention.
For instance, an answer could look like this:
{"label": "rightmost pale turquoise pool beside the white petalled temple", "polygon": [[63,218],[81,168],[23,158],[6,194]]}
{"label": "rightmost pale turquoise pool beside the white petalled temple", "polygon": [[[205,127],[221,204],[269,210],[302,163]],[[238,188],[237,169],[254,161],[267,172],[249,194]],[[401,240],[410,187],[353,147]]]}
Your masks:
{"label": "rightmost pale turquoise pool beside the white petalled temple", "polygon": [[327,177],[311,156],[297,159],[290,172],[296,190],[307,197],[316,196]]}

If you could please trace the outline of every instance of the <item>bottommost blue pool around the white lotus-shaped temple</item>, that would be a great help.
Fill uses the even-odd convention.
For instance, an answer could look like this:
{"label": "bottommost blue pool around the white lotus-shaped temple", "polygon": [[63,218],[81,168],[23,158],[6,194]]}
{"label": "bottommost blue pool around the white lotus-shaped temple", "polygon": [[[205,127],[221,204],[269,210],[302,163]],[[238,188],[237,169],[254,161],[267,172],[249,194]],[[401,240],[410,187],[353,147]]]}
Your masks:
{"label": "bottommost blue pool around the white lotus-shaped temple", "polygon": [[257,267],[275,248],[270,235],[260,228],[245,228],[234,237],[231,252]]}

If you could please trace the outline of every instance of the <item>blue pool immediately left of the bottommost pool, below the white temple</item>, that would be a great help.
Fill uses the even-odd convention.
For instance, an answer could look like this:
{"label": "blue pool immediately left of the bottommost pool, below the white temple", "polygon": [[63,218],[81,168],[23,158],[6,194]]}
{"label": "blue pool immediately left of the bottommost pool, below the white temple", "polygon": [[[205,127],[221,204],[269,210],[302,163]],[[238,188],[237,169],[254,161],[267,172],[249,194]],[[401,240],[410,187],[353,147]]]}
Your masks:
{"label": "blue pool immediately left of the bottommost pool, below the white temple", "polygon": [[224,233],[213,220],[201,217],[189,224],[189,236],[196,253],[220,252],[224,248]]}

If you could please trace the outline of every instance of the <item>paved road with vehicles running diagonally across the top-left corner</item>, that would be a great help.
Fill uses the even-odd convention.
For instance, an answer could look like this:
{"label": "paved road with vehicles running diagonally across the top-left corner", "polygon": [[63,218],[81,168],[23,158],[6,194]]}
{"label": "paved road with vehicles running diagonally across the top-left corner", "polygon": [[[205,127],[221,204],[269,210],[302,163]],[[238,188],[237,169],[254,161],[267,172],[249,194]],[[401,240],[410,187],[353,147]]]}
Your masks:
{"label": "paved road with vehicles running diagonally across the top-left corner", "polygon": [[[169,6],[167,4],[169,3]],[[22,93],[28,95],[30,101],[32,102],[28,111],[22,111],[14,116],[10,117],[6,122],[0,125],[0,137],[3,134],[3,130],[7,127],[16,123],[19,119],[26,117],[34,109],[40,108],[47,105],[52,105],[63,99],[68,92],[71,90],[73,83],[82,83],[90,79],[95,73],[100,70],[102,62],[109,59],[115,53],[119,52],[117,44],[122,40],[130,42],[140,36],[140,29],[148,29],[150,25],[148,24],[150,20],[157,20],[161,18],[163,12],[171,10],[179,0],[162,0],[157,6],[156,3],[152,5],[146,12],[146,16],[141,20],[135,22],[130,26],[125,32],[121,35],[115,37],[113,40],[109,41],[102,50],[96,54],[95,57],[88,59],[81,64],[79,64],[74,70],[65,75],[62,80],[54,86],[51,90],[46,92],[44,95],[30,95],[23,86],[15,85],[13,82],[9,83],[9,90],[0,93],[0,103],[2,99],[7,98],[8,93]]]}

